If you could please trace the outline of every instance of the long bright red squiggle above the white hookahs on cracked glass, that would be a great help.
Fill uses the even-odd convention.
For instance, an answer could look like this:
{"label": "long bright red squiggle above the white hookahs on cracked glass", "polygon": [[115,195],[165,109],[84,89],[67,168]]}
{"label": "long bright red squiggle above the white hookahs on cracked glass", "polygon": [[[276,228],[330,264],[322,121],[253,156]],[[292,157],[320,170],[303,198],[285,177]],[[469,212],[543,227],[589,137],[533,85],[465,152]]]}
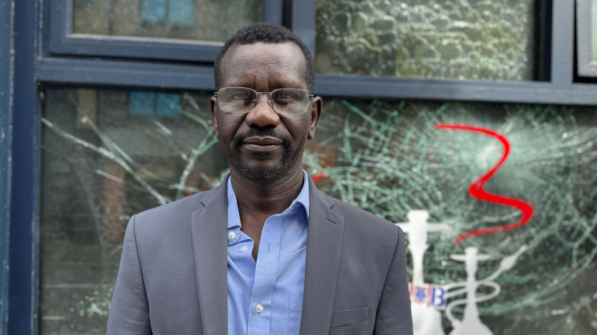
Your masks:
{"label": "long bright red squiggle above the white hookahs on cracked glass", "polygon": [[476,230],[476,231],[472,231],[472,232],[467,232],[466,234],[458,236],[458,238],[456,238],[454,243],[458,244],[460,241],[464,240],[464,238],[478,236],[478,235],[485,235],[485,234],[493,234],[494,232],[516,229],[516,228],[519,228],[519,227],[522,227],[523,225],[525,225],[529,221],[529,219],[531,219],[531,216],[533,216],[533,206],[531,206],[531,204],[529,204],[525,201],[516,199],[516,198],[504,197],[504,196],[500,196],[498,194],[488,193],[485,190],[483,190],[483,187],[485,186],[485,184],[493,177],[494,174],[496,174],[497,170],[501,167],[501,165],[504,162],[506,162],[508,155],[510,154],[510,143],[508,142],[506,137],[504,137],[504,135],[501,135],[500,133],[498,133],[496,131],[492,131],[491,129],[486,129],[486,128],[464,126],[464,125],[435,125],[435,126],[438,129],[456,129],[456,130],[461,130],[461,131],[479,132],[481,134],[485,134],[490,137],[497,138],[501,142],[501,144],[504,146],[504,153],[501,156],[500,162],[498,162],[496,164],[496,166],[493,167],[493,169],[491,169],[489,172],[485,173],[485,175],[483,175],[481,178],[479,178],[475,182],[473,182],[473,184],[470,184],[469,194],[473,198],[477,198],[481,201],[487,201],[489,203],[500,204],[502,206],[515,207],[516,209],[518,209],[522,212],[522,218],[520,219],[520,221],[516,222],[515,224],[503,225],[500,227],[493,227],[493,228],[480,229],[480,230]]}

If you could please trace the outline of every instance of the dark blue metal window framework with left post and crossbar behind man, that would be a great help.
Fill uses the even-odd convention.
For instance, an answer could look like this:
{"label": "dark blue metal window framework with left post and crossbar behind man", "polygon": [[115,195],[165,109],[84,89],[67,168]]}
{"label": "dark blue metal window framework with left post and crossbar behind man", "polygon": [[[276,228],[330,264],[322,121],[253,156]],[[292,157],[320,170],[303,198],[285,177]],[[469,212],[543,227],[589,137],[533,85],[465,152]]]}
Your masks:
{"label": "dark blue metal window framework with left post and crossbar behind man", "polygon": [[[167,48],[167,45],[156,44],[145,46],[135,44],[127,49],[131,54],[118,51],[119,46],[113,41],[94,48],[112,49],[106,57],[85,49],[89,45],[70,45],[69,52],[57,53],[48,47],[51,41],[80,42],[63,39],[56,35],[56,15],[51,14],[56,8],[48,8],[67,0],[8,0],[14,7],[13,36],[14,40],[14,76],[10,84],[14,84],[14,103],[8,106],[13,116],[12,159],[13,173],[9,177],[12,185],[10,197],[0,197],[0,215],[10,216],[10,225],[2,225],[0,219],[0,239],[6,238],[10,229],[10,293],[8,293],[8,324],[0,317],[0,333],[7,327],[10,334],[38,334],[39,303],[39,187],[40,187],[40,135],[41,103],[38,92],[41,85],[75,85],[75,86],[119,86],[126,88],[147,89],[214,89],[213,67],[211,61],[203,65],[190,65],[176,62],[173,58],[158,60],[157,55],[148,60],[137,57],[140,50],[150,48]],[[550,0],[551,1],[551,0]],[[315,0],[270,0],[271,13],[279,15],[272,19],[291,27],[315,52]],[[0,6],[0,17],[7,15],[7,8]],[[43,6],[42,6],[43,5]],[[288,16],[282,20],[282,7],[288,10]],[[65,7],[62,7],[65,8]],[[264,9],[266,10],[266,9]],[[44,15],[42,15],[42,13]],[[278,14],[276,14],[278,13]],[[393,77],[362,76],[316,76],[315,93],[319,95],[339,97],[380,97],[410,100],[458,100],[486,101],[502,103],[536,103],[536,104],[572,104],[597,106],[597,85],[590,83],[574,83],[574,2],[570,0],[553,0],[551,36],[550,82],[476,82],[460,80],[427,80]],[[59,25],[60,26],[60,25]],[[0,27],[0,43],[4,47],[4,27]],[[49,35],[49,36],[48,36]],[[64,35],[66,36],[66,35]],[[63,45],[64,46],[64,45]],[[76,48],[75,48],[76,46]],[[79,46],[82,52],[78,52]],[[56,45],[54,45],[56,48]],[[60,51],[60,50],[59,50]],[[93,50],[92,50],[93,51]],[[127,51],[127,52],[128,52]],[[172,49],[168,49],[169,56]],[[87,52],[87,53],[86,53]],[[161,51],[163,52],[163,51]],[[184,57],[183,57],[184,58]],[[193,58],[197,60],[198,58]],[[204,59],[204,58],[201,58]],[[207,57],[205,57],[207,59]],[[185,59],[185,60],[188,60]],[[0,70],[4,71],[5,63],[0,61]],[[37,85],[36,85],[37,84]],[[0,89],[3,89],[0,85]],[[0,95],[0,106],[7,106],[7,98]],[[0,124],[0,127],[6,127]],[[0,159],[4,159],[6,151],[0,148]],[[1,175],[0,175],[1,177]],[[2,212],[2,208],[10,208],[10,213]],[[0,257],[7,257],[4,249],[0,249]],[[0,286],[0,299],[7,292]],[[4,307],[2,307],[4,306]],[[7,304],[0,306],[6,309]],[[4,322],[4,324],[2,324]]]}

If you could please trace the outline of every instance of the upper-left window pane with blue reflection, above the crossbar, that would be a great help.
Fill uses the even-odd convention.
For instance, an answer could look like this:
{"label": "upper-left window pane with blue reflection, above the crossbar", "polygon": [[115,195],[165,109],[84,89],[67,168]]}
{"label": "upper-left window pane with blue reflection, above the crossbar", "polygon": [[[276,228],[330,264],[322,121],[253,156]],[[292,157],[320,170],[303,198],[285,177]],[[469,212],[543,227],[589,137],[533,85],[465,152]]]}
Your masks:
{"label": "upper-left window pane with blue reflection, above the crossbar", "polygon": [[73,0],[72,32],[223,42],[261,21],[261,0]]}

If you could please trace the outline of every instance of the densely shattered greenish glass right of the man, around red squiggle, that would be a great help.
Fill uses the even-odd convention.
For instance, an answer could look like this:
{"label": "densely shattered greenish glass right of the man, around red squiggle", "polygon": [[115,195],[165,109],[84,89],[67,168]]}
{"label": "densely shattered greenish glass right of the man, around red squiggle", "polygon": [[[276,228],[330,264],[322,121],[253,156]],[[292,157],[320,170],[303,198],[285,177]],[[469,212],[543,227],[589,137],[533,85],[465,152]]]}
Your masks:
{"label": "densely shattered greenish glass right of the man, around red squiggle", "polygon": [[[318,187],[392,222],[424,209],[429,222],[451,227],[429,235],[427,283],[466,278],[463,266],[449,258],[466,246],[499,260],[526,244],[515,268],[497,280],[502,293],[479,304],[485,324],[495,334],[597,330],[595,108],[333,100],[325,109],[325,130],[318,137],[337,134],[335,160],[326,166],[317,163],[322,159],[317,150],[306,155],[316,166],[313,172],[330,176]],[[442,131],[438,123],[489,128],[509,139],[510,157],[486,190],[531,203],[536,212],[527,225],[454,244],[464,232],[513,224],[520,213],[467,193],[501,158],[501,144],[470,132]],[[480,264],[478,277],[487,277],[497,263]]]}

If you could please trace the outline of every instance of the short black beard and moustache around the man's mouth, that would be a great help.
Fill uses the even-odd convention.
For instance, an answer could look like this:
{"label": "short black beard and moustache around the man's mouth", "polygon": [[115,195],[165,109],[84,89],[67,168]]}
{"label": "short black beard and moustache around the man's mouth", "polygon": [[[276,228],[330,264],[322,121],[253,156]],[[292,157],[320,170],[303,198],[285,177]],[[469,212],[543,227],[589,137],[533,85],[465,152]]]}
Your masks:
{"label": "short black beard and moustache around the man's mouth", "polygon": [[[253,137],[253,136],[269,136],[280,139],[282,141],[282,148],[284,153],[280,158],[279,162],[277,162],[275,169],[273,171],[266,171],[266,170],[258,170],[258,169],[250,169],[247,164],[244,162],[244,159],[241,154],[241,145],[246,138]],[[273,128],[249,128],[245,134],[235,135],[232,138],[231,142],[231,150],[230,150],[230,163],[238,170],[241,175],[245,178],[251,179],[255,182],[259,182],[261,184],[267,184],[273,181],[277,181],[282,176],[288,173],[288,170],[292,166],[291,163],[291,154],[293,151],[293,146],[291,144],[291,139],[283,136],[281,134],[277,134]],[[266,152],[256,152],[254,153],[256,156],[265,157],[269,153]]]}

